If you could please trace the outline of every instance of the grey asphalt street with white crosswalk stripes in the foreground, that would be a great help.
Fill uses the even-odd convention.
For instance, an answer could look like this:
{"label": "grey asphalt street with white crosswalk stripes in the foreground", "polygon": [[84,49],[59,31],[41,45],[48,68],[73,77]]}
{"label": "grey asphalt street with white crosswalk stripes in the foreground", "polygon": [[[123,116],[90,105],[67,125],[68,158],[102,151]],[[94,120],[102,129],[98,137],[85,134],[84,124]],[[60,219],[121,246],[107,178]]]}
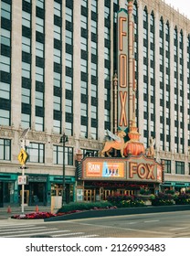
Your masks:
{"label": "grey asphalt street with white crosswalk stripes in the foreground", "polygon": [[190,238],[190,210],[44,222],[2,219],[0,238]]}

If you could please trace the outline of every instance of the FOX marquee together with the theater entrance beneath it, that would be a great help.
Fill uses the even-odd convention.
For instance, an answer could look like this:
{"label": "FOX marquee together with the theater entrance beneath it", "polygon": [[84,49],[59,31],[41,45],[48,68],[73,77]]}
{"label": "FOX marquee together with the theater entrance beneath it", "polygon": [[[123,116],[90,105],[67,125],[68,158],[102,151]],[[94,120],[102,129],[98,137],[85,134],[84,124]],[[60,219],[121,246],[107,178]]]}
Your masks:
{"label": "FOX marquee together with the theater entrance beneath it", "polygon": [[100,201],[115,194],[138,196],[141,189],[156,194],[164,166],[144,155],[128,158],[86,157],[77,181],[77,201]]}

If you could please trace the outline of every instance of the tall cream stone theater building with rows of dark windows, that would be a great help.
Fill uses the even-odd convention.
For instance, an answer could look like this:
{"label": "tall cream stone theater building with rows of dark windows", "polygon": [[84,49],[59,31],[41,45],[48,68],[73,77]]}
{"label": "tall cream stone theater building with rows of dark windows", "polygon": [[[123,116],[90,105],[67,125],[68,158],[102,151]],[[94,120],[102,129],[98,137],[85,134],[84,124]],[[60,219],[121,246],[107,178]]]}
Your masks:
{"label": "tall cream stone theater building with rows of dark windows", "polygon": [[[190,187],[187,17],[162,0],[1,0],[0,14],[0,207],[20,203],[18,155],[27,128],[26,205],[61,197],[63,166],[68,202],[77,200],[80,182],[87,190],[98,182],[99,190],[108,179],[102,170],[93,181],[84,164],[77,180],[78,151],[83,159],[99,156],[112,140],[105,131],[130,133],[133,121],[144,152],[132,161],[164,160],[164,183],[156,171],[153,185],[136,174],[129,180],[129,150],[120,159],[97,158],[100,165],[109,165],[107,158],[121,163],[122,176],[114,179],[126,191],[135,183]],[[151,137],[154,160],[146,155]]]}

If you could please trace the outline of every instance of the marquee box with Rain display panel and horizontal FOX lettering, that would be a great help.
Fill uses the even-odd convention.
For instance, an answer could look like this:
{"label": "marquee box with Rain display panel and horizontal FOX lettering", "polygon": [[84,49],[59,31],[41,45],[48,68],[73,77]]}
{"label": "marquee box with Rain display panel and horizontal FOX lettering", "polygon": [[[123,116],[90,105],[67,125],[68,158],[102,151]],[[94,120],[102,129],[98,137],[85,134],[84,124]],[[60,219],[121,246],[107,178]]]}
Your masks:
{"label": "marquee box with Rain display panel and horizontal FOX lettering", "polygon": [[144,155],[132,156],[119,161],[90,157],[83,161],[82,169],[82,179],[84,180],[161,183],[163,175],[162,165]]}

